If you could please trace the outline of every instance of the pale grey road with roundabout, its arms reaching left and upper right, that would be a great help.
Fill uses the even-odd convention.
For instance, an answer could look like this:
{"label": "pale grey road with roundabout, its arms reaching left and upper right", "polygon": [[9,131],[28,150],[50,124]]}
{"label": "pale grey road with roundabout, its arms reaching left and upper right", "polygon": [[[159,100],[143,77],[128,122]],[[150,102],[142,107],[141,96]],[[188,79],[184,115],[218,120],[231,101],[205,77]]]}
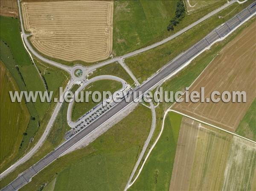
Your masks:
{"label": "pale grey road with roundabout, its arms reaching left and upper right", "polygon": [[[21,12],[21,7],[20,7],[20,1],[17,0],[17,4],[18,4],[18,8],[19,8],[19,16],[20,16],[20,26],[21,26],[21,36],[23,37],[23,41],[24,43],[26,44],[27,46],[27,49],[29,49],[29,51],[35,55],[35,57],[37,57],[38,59],[41,59],[43,60],[44,62],[46,63],[49,63],[53,66],[56,66],[58,68],[61,68],[67,72],[69,72],[70,76],[71,76],[71,79],[69,81],[69,83],[67,84],[67,87],[66,87],[66,90],[72,88],[73,84],[76,83],[76,81],[81,81],[85,78],[85,76],[90,73],[91,71],[95,70],[96,68],[99,68],[99,67],[102,67],[102,66],[105,66],[107,64],[110,64],[110,63],[113,63],[113,62],[116,62],[116,61],[119,61],[119,63],[121,63],[122,65],[122,60],[124,58],[127,58],[127,57],[130,57],[130,56],[134,56],[136,54],[140,54],[142,53],[143,51],[147,51],[151,48],[155,48],[163,43],[166,43],[168,42],[169,40],[172,40],[174,39],[175,37],[177,37],[178,35],[186,32],[187,30],[191,29],[192,27],[198,25],[199,23],[203,22],[204,20],[206,20],[207,18],[211,17],[212,15],[218,13],[219,11],[225,9],[227,6],[230,6],[231,4],[235,3],[236,1],[235,0],[231,0],[229,3],[226,3],[224,6],[221,6],[220,8],[216,9],[215,11],[212,11],[211,13],[207,14],[206,16],[202,17],[200,20],[196,21],[195,23],[192,23],[191,25],[187,26],[186,28],[178,31],[177,33],[171,35],[170,37],[167,37],[166,39],[158,42],[158,43],[154,43],[153,45],[151,46],[147,46],[145,48],[141,48],[137,51],[133,51],[131,53],[128,53],[128,54],[125,54],[121,57],[116,57],[116,58],[113,58],[111,60],[107,60],[105,62],[102,62],[102,63],[99,63],[99,64],[96,64],[94,66],[90,66],[90,67],[84,67],[84,66],[81,66],[81,65],[76,65],[76,66],[73,66],[73,67],[69,67],[69,66],[65,66],[65,65],[62,65],[60,63],[56,63],[52,60],[49,60],[47,58],[44,58],[43,56],[41,56],[40,54],[38,54],[33,48],[32,46],[30,45],[27,37],[29,37],[30,34],[26,34],[25,31],[24,31],[24,26],[23,26],[23,17],[22,17],[22,12]],[[76,77],[74,75],[74,71],[76,69],[81,69],[83,71],[83,75],[81,77]],[[137,81],[136,77],[134,77],[134,75],[132,74],[132,72],[130,72],[129,68],[127,68],[127,66],[125,67],[125,69],[128,72],[128,74],[131,75],[132,79],[135,80],[135,83],[139,85],[139,82]],[[38,143],[28,152],[26,153],[23,157],[21,157],[19,160],[17,160],[14,164],[12,164],[9,168],[7,168],[5,171],[3,171],[1,174],[0,174],[0,180],[5,177],[7,174],[9,174],[10,172],[14,171],[15,168],[17,168],[19,165],[23,164],[24,162],[26,162],[27,160],[29,160],[30,157],[33,156],[33,154],[35,154],[36,151],[38,151],[38,149],[41,147],[41,145],[44,143],[45,139],[47,138],[51,128],[52,128],[52,125],[55,121],[55,118],[61,108],[61,105],[62,103],[57,103],[57,105],[55,106],[55,109],[52,113],[52,117],[50,118],[49,122],[47,123],[47,127],[44,131],[44,134],[41,136],[40,140],[38,141]]]}

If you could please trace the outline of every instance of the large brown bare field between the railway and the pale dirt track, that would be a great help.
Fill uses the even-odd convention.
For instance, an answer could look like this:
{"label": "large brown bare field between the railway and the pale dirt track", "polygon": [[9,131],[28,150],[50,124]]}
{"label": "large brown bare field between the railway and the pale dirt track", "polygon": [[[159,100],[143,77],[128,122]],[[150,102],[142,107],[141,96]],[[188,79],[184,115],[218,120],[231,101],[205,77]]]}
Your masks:
{"label": "large brown bare field between the railway and the pale dirt track", "polygon": [[175,103],[177,111],[189,114],[230,131],[236,131],[256,97],[256,22],[232,40],[189,88],[200,92],[205,87],[205,98],[212,91],[245,91],[246,103]]}

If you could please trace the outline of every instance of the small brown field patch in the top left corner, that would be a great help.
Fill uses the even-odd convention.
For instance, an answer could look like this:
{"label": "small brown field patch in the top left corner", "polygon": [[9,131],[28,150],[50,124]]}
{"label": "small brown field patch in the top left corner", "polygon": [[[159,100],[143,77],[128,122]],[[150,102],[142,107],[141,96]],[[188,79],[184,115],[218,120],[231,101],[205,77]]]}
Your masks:
{"label": "small brown field patch in the top left corner", "polygon": [[18,17],[18,5],[16,0],[0,0],[0,15]]}

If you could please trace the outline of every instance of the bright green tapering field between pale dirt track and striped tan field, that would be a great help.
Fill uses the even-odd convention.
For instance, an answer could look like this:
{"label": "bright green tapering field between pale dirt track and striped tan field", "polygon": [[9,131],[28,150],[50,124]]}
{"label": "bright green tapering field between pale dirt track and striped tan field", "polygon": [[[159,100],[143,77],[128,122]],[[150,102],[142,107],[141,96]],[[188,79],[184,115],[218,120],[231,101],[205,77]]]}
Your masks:
{"label": "bright green tapering field between pale dirt track and striped tan field", "polygon": [[173,112],[166,115],[163,134],[129,190],[169,190],[181,119]]}

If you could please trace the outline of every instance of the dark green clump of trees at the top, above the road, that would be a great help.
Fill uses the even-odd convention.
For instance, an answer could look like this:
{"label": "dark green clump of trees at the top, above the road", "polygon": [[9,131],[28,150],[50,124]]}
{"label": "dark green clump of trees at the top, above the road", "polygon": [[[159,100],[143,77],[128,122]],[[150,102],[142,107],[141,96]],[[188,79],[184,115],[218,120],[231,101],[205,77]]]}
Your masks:
{"label": "dark green clump of trees at the top, above the road", "polygon": [[170,20],[169,25],[167,26],[168,31],[173,31],[174,26],[176,26],[180,21],[185,17],[185,6],[183,0],[179,0],[177,2],[176,10],[175,10],[175,17]]}

